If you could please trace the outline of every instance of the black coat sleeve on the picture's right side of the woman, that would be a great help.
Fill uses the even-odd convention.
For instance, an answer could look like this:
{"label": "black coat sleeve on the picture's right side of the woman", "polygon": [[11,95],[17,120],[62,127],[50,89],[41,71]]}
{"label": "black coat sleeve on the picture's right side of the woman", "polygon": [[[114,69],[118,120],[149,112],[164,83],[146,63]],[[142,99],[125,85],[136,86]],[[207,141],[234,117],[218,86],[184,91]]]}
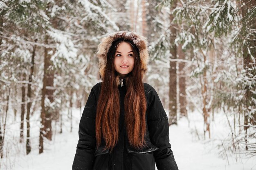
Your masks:
{"label": "black coat sleeve on the picture's right side of the woman", "polygon": [[147,116],[149,137],[151,143],[159,148],[154,151],[157,169],[178,170],[169,142],[169,124],[164,107],[154,88],[148,91],[147,96],[149,100]]}

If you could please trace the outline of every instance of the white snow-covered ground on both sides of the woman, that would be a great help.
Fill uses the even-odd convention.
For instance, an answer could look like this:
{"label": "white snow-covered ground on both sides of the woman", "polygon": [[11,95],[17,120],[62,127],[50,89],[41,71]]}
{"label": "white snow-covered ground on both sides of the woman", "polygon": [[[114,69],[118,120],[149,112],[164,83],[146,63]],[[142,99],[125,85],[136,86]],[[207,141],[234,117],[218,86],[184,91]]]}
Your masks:
{"label": "white snow-covered ground on both sides of the woman", "polygon": [[[1,170],[71,170],[76,144],[78,141],[79,110],[74,113],[74,128],[69,132],[68,125],[63,128],[63,133],[56,133],[52,141],[45,141],[44,153],[38,155],[36,144],[32,152],[25,155],[25,151],[17,156],[11,155],[2,159]],[[242,156],[236,158],[229,155],[222,159],[218,155],[221,148],[216,145],[227,136],[228,127],[222,114],[215,115],[211,123],[211,137],[203,139],[203,119],[198,113],[190,113],[189,121],[186,118],[178,120],[178,126],[170,127],[170,143],[180,170],[256,170],[256,157],[246,159]],[[37,131],[39,133],[39,131]],[[38,139],[34,139],[38,141]],[[4,162],[9,163],[4,163]]]}

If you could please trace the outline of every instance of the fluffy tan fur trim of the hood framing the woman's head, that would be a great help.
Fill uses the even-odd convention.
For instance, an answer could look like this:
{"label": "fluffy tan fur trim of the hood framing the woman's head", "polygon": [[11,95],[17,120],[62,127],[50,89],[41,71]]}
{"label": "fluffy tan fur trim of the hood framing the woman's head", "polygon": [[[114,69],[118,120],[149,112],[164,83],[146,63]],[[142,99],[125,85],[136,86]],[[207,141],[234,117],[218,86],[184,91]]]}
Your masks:
{"label": "fluffy tan fur trim of the hood framing the woman's head", "polygon": [[[148,47],[147,40],[144,36],[129,31],[117,31],[109,34],[108,36],[101,39],[101,43],[98,46],[97,57],[99,58],[99,73],[101,79],[103,79],[105,74],[105,68],[107,63],[107,53],[110,49],[112,42],[119,38],[124,38],[125,40],[131,40],[139,49],[139,57],[141,64],[141,76],[144,77],[147,71],[148,64]],[[117,84],[119,84],[119,76],[117,76]]]}

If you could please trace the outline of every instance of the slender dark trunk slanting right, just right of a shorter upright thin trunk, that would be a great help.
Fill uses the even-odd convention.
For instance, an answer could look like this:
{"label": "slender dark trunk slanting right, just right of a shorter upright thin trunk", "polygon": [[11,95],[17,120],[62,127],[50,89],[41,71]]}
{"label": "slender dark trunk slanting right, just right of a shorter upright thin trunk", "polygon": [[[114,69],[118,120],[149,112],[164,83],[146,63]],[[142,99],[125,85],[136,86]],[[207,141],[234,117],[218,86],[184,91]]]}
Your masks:
{"label": "slender dark trunk slanting right, just right of a shorter upright thin trunk", "polygon": [[[35,40],[37,42],[37,39]],[[35,58],[35,53],[36,53],[36,45],[33,47],[32,51],[32,56],[31,56],[31,66],[30,66],[30,74],[29,74],[29,84],[27,85],[27,116],[26,116],[26,121],[27,121],[27,140],[26,140],[26,152],[27,155],[31,152],[31,146],[30,146],[30,107],[31,107],[31,83],[32,83],[32,76],[34,73],[34,58]]]}

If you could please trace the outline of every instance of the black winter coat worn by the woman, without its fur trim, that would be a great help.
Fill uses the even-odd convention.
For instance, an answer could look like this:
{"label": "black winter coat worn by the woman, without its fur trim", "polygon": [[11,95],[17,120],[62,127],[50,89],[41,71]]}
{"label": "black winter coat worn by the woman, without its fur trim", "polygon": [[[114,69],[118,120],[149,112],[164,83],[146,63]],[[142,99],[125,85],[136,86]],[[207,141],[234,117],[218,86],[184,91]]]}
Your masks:
{"label": "black winter coat worn by the woman, without its fur trim", "polygon": [[124,86],[119,85],[120,119],[119,140],[110,152],[103,150],[104,142],[96,150],[95,117],[101,83],[96,84],[88,97],[79,124],[79,141],[72,170],[178,170],[171,144],[169,143],[169,126],[167,115],[155,89],[144,83],[147,100],[146,111],[146,145],[141,150],[132,148],[126,135],[124,125]]}

